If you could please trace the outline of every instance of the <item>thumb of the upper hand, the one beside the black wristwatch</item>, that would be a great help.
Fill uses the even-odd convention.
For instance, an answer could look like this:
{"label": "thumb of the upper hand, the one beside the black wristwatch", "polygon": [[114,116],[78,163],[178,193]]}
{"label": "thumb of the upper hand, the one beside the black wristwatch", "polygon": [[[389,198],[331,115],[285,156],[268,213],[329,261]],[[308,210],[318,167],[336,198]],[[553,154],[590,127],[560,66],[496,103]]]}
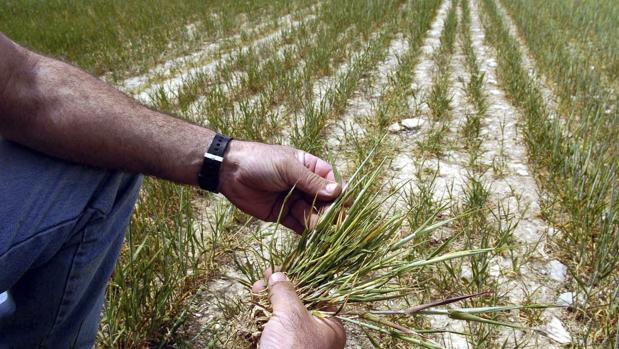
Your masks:
{"label": "thumb of the upper hand, the one beside the black wristwatch", "polygon": [[316,196],[320,200],[330,201],[337,198],[342,192],[340,184],[319,176],[301,163],[296,162],[288,170],[289,184],[296,185],[299,190],[312,197]]}

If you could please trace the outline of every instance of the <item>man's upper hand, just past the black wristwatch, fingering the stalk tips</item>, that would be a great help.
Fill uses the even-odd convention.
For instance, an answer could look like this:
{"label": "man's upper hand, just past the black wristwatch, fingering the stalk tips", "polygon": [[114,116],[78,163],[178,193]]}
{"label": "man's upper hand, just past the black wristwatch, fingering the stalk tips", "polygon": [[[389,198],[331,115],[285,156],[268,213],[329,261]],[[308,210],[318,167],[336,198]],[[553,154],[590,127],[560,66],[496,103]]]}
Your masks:
{"label": "man's upper hand, just past the black wristwatch, fingering the stalk tips", "polygon": [[242,211],[271,222],[279,217],[297,233],[313,226],[317,209],[342,192],[331,165],[322,159],[284,146],[236,140],[226,150],[219,180],[221,193]]}

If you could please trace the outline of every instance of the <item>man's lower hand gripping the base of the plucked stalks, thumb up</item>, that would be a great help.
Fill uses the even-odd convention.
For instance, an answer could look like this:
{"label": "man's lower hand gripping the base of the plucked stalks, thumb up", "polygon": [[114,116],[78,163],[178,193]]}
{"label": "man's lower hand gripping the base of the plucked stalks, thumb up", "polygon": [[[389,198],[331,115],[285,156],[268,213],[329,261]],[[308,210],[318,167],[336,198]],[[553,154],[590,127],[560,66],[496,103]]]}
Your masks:
{"label": "man's lower hand gripping the base of the plucked stalks, thumb up", "polygon": [[[265,273],[273,315],[267,322],[260,349],[341,349],[346,344],[346,332],[334,319],[312,316],[297,296],[294,286],[283,273]],[[265,281],[252,287],[253,293],[264,291]]]}

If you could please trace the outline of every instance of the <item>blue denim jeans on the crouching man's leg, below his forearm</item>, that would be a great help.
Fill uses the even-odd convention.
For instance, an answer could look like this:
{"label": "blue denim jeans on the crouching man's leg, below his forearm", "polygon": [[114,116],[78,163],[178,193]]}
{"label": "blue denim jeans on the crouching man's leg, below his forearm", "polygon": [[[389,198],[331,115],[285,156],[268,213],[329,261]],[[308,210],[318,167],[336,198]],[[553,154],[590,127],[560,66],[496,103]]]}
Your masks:
{"label": "blue denim jeans on the crouching man's leg, below his forearm", "polygon": [[0,349],[94,345],[141,181],[0,139]]}

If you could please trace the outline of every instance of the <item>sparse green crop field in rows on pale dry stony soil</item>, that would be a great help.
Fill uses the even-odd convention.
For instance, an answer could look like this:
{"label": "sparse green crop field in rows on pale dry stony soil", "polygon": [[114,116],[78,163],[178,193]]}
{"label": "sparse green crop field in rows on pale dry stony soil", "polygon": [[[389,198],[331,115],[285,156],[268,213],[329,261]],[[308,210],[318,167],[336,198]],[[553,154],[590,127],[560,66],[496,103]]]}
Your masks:
{"label": "sparse green crop field in rows on pale dry stony soil", "polygon": [[[440,8],[443,31],[430,33]],[[471,31],[478,13],[483,33]],[[250,285],[275,265],[316,314],[362,328],[368,342],[350,338],[354,345],[547,343],[536,290],[524,289],[520,305],[498,290],[504,280],[527,284],[522,270],[552,256],[567,278],[539,286],[553,300],[574,292],[577,302],[556,312],[572,346],[619,348],[618,20],[616,2],[576,0],[0,4],[0,30],[16,41],[149,107],[328,158],[350,183],[295,239],[223,198],[147,179],[99,347],[242,347],[230,329],[247,321],[248,298],[215,295],[211,285],[239,270]],[[480,35],[487,51],[478,51]],[[420,66],[430,66],[427,81]],[[497,115],[500,90],[520,119]],[[526,154],[510,148],[514,139]],[[515,165],[537,186],[518,187]],[[527,190],[540,193],[523,200],[540,208],[528,218],[551,226],[538,232],[545,256],[531,257],[534,247],[515,236]],[[324,302],[343,306],[328,313]],[[260,325],[268,300],[258,308]],[[463,325],[436,328],[430,316]]]}

